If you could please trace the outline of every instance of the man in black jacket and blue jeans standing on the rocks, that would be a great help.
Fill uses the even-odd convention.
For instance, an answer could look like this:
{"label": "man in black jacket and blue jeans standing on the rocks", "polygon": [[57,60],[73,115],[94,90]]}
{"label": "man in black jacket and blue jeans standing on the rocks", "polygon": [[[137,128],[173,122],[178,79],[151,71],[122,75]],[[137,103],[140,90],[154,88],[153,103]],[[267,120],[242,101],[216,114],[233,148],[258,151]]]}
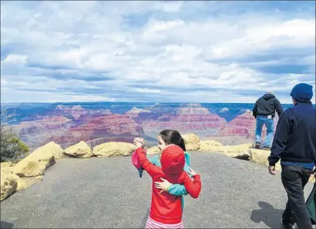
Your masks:
{"label": "man in black jacket and blue jeans standing on the rocks", "polygon": [[270,149],[274,131],[273,118],[275,116],[275,111],[277,111],[278,116],[280,117],[283,112],[283,107],[271,91],[268,91],[265,95],[256,100],[256,104],[254,104],[252,113],[254,118],[256,118],[255,147],[257,149],[259,149],[261,145],[261,131],[263,125],[267,128],[267,137],[265,138],[265,145],[263,146],[263,149]]}

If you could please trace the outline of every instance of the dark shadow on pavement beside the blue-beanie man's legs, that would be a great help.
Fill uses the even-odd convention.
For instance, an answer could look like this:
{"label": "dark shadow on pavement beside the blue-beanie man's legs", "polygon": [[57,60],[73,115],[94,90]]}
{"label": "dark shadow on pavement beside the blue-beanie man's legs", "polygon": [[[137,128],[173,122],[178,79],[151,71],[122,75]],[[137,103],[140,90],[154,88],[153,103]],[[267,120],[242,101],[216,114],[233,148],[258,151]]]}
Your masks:
{"label": "dark shadow on pavement beside the blue-beanie man's legs", "polygon": [[255,223],[263,221],[269,228],[282,228],[281,219],[284,210],[275,209],[270,203],[260,201],[258,205],[261,209],[252,210],[250,219]]}

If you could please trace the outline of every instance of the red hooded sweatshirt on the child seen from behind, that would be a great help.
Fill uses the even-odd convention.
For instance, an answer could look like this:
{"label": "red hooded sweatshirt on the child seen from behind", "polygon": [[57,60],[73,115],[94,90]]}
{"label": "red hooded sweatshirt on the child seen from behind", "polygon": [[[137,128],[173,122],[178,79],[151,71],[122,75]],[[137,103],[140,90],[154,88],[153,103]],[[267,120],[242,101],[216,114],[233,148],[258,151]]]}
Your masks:
{"label": "red hooded sweatshirt on the child seen from behind", "polygon": [[139,147],[136,150],[139,156],[141,167],[152,177],[152,201],[150,218],[166,224],[182,222],[182,196],[173,196],[168,192],[162,192],[155,187],[155,182],[161,182],[165,178],[170,183],[181,184],[194,199],[198,198],[201,192],[200,175],[191,178],[183,171],[185,158],[182,148],[177,145],[169,145],[161,154],[161,167],[153,165],[148,161],[146,152]]}

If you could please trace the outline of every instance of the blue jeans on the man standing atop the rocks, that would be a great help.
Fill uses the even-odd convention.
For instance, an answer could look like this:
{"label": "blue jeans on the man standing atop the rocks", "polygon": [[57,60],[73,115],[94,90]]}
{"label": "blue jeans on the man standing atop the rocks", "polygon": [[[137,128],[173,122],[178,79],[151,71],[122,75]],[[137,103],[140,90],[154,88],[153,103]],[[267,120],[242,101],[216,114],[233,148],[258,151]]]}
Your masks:
{"label": "blue jeans on the man standing atop the rocks", "polygon": [[256,116],[256,143],[261,143],[261,131],[263,124],[267,127],[267,137],[265,138],[265,147],[270,147],[272,144],[274,122],[273,118],[267,116]]}

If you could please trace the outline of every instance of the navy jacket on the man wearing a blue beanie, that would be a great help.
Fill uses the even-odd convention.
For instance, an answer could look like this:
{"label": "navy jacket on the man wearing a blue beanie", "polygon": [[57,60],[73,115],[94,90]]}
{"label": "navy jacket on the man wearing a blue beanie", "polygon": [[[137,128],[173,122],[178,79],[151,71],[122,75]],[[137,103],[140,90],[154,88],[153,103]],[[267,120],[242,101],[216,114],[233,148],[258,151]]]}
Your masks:
{"label": "navy jacket on the man wearing a blue beanie", "polygon": [[281,161],[315,163],[316,113],[309,103],[287,109],[279,118],[274,135],[269,165]]}

